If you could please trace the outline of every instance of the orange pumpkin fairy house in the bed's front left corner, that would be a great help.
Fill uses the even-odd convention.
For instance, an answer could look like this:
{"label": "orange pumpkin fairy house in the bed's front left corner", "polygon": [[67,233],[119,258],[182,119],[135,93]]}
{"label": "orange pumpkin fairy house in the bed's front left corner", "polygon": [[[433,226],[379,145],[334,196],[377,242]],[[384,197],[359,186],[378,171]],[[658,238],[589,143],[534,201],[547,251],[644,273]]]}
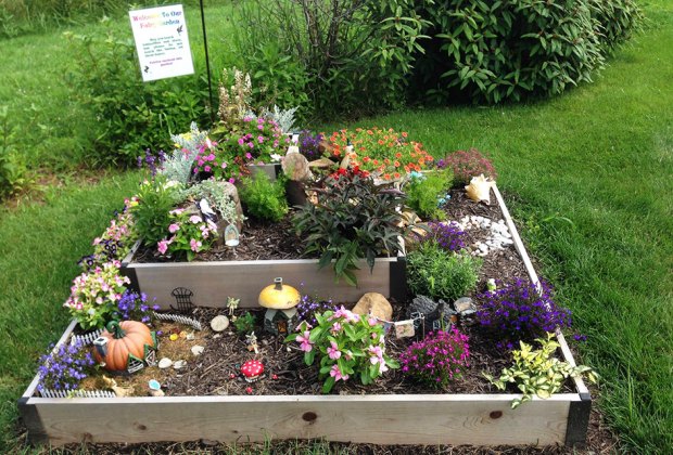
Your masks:
{"label": "orange pumpkin fairy house in the bed's front left corner", "polygon": [[[99,342],[104,338],[102,342]],[[104,368],[111,372],[125,370],[129,355],[144,360],[145,344],[154,347],[154,338],[150,328],[137,321],[113,321],[107,324],[99,339],[94,342],[93,358],[98,363],[104,363]]]}

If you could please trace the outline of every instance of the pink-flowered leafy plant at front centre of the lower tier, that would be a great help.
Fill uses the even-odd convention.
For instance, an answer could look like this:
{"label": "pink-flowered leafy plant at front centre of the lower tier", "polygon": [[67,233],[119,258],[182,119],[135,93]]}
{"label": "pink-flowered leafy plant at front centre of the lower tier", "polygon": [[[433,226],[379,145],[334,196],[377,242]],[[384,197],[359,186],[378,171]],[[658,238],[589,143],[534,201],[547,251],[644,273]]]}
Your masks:
{"label": "pink-flowered leafy plant at front centre of the lower tier", "polygon": [[316,314],[316,321],[313,328],[303,321],[297,333],[285,341],[300,343],[306,365],[313,365],[318,355],[320,377],[325,378],[323,393],[353,375],[359,376],[361,384],[367,386],[390,368],[399,367],[384,353],[383,326],[376,317],[359,316],[341,307],[336,311]]}

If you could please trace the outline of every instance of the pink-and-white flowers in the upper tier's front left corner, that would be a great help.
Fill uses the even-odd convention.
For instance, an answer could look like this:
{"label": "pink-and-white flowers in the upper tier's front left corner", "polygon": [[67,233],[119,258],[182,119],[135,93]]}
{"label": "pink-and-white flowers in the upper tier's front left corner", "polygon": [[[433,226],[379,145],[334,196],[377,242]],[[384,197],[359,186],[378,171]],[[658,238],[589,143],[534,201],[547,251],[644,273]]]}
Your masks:
{"label": "pink-and-white flowers in the upper tier's front left corner", "polygon": [[162,255],[175,253],[187,256],[191,261],[196,252],[211,248],[217,236],[217,226],[212,222],[204,221],[201,214],[175,209],[168,212],[168,232],[170,238],[162,238],[156,244],[156,249]]}

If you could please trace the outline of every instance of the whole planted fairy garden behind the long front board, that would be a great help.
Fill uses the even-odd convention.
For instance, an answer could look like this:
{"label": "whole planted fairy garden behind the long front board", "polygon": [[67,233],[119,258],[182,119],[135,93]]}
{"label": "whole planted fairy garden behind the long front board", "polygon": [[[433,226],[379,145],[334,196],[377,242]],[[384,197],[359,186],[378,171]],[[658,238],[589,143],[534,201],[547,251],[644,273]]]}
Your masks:
{"label": "whole planted fairy garden behind the long front board", "polygon": [[[411,131],[310,132],[237,90],[223,100],[209,131],[139,157],[138,191],[80,261],[64,304],[77,327],[40,360],[39,395],[507,391],[518,407],[595,380],[560,355],[570,311],[528,273],[482,153],[437,159]],[[389,287],[370,288],[386,260]],[[177,274],[152,295],[164,269],[151,281],[131,262]],[[232,262],[207,298],[201,269],[180,268]]]}

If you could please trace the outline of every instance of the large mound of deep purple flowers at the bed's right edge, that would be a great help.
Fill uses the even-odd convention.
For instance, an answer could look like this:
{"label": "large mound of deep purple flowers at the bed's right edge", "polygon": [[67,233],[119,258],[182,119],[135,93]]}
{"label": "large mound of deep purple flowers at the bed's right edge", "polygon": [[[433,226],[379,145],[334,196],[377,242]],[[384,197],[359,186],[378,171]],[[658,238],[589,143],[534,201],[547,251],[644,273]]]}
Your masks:
{"label": "large mound of deep purple flowers at the bed's right edge", "polygon": [[499,348],[516,349],[521,340],[531,342],[557,326],[570,327],[570,310],[553,300],[551,285],[544,281],[539,284],[542,292],[530,281],[515,278],[478,296],[481,310],[477,317],[500,339]]}

